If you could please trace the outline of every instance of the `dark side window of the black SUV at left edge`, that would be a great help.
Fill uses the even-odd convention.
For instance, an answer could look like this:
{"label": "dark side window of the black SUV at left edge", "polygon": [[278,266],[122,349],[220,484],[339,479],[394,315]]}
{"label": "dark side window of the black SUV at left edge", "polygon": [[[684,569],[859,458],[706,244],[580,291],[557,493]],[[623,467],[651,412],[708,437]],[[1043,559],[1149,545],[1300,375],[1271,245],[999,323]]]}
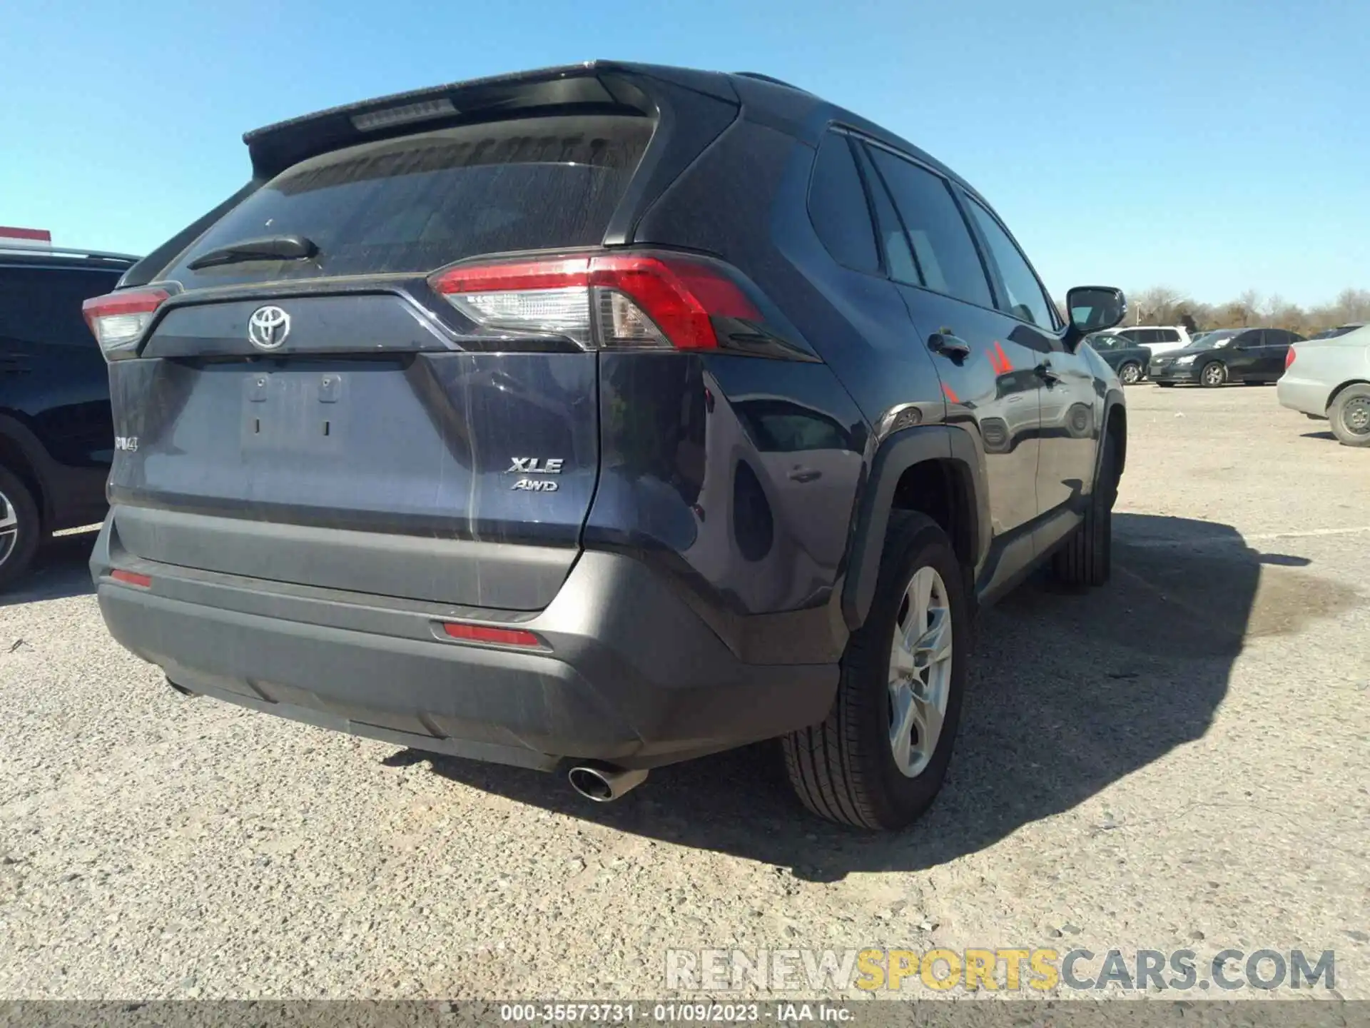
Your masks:
{"label": "dark side window of the black SUV at left edge", "polygon": [[81,304],[114,289],[118,271],[0,267],[0,344],[48,343],[96,350]]}

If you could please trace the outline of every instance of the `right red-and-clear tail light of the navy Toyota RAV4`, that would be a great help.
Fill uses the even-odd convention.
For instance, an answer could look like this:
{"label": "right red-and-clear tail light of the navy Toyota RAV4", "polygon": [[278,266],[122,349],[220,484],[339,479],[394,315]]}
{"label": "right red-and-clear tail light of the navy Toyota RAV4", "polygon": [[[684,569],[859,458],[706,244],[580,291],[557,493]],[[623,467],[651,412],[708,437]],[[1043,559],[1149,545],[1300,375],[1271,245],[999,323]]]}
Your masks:
{"label": "right red-and-clear tail light of the navy Toyota RAV4", "polygon": [[714,318],[762,321],[723,271],[674,255],[482,263],[430,281],[482,328],[564,336],[585,350],[717,350]]}

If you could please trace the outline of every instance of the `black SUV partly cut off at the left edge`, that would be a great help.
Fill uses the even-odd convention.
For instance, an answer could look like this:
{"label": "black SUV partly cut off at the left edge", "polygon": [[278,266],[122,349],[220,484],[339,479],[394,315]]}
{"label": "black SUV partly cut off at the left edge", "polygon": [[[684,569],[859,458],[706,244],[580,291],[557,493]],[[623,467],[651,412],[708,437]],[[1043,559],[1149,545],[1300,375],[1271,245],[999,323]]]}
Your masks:
{"label": "black SUV partly cut off at the left edge", "polygon": [[81,304],[136,260],[0,249],[0,589],[25,573],[45,535],[105,514],[110,377]]}

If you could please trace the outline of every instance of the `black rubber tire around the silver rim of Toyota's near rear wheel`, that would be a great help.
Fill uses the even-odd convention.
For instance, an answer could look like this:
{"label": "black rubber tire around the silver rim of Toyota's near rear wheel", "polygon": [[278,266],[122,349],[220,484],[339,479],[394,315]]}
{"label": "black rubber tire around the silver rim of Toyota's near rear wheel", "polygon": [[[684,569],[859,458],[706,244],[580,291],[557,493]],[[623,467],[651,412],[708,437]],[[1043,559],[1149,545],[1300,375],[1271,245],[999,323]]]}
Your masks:
{"label": "black rubber tire around the silver rim of Toyota's near rear wheel", "polygon": [[[891,751],[888,680],[904,589],[921,567],[933,567],[945,588],[952,657],[941,735],[923,770],[906,777]],[[782,740],[785,770],[804,806],[855,828],[897,831],[915,821],[947,777],[971,646],[966,573],[951,540],[932,518],[895,511],[870,614],[843,654],[833,709],[821,725]]]}

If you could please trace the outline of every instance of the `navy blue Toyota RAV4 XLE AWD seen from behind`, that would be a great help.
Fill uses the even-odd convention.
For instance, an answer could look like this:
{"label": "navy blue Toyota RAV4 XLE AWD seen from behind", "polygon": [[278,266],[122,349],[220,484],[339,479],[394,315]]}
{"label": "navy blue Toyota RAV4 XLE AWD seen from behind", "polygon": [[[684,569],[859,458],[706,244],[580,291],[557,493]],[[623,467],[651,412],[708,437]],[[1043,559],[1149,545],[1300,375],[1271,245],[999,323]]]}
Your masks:
{"label": "navy blue Toyota RAV4 XLE AWD seen from behind", "polygon": [[204,694],[614,799],[784,737],[897,828],[977,602],[1108,577],[1122,389],[966,182],[759,75],[622,63],[248,133],[88,304],[126,448],[92,572]]}

